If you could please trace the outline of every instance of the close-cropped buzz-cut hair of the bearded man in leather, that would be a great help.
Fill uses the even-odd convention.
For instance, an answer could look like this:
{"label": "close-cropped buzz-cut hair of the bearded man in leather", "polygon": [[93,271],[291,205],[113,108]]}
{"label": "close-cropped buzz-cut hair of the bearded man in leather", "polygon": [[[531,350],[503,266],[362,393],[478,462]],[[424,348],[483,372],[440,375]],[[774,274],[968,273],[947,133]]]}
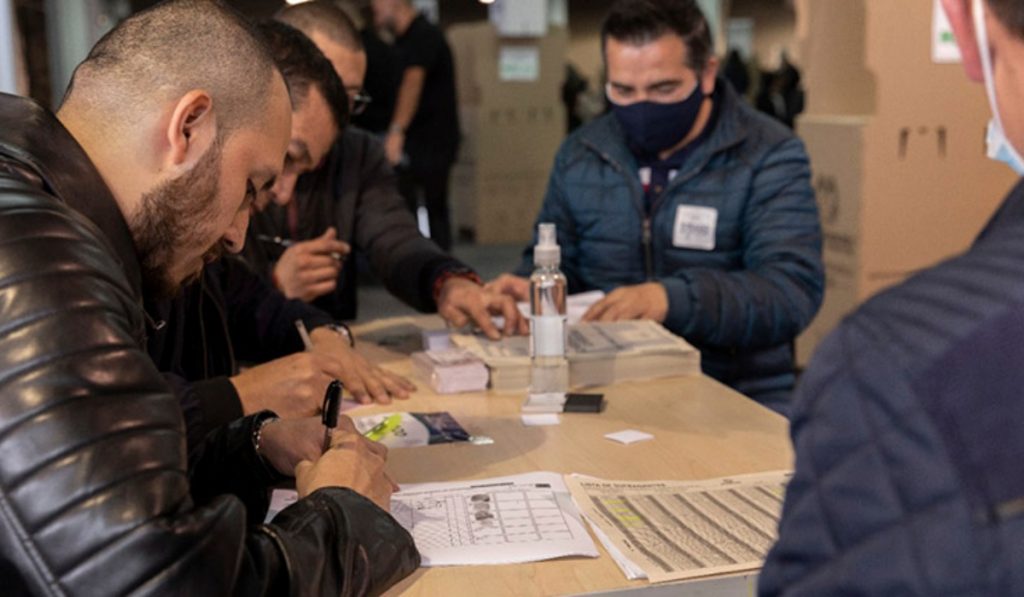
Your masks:
{"label": "close-cropped buzz-cut hair of the bearded man in leather", "polygon": [[[252,124],[266,110],[273,59],[252,24],[216,0],[170,0],[133,14],[103,36],[72,77],[65,102],[134,122],[157,99],[205,89],[218,134]],[[115,125],[117,126],[117,125]]]}

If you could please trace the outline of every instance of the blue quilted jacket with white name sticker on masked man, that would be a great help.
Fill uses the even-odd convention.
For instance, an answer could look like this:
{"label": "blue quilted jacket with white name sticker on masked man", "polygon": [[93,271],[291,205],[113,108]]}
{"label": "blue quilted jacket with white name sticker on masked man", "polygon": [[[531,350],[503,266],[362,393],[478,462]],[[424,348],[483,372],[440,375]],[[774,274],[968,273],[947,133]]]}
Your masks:
{"label": "blue quilted jacket with white name sticker on masked man", "polygon": [[[570,292],[662,283],[665,326],[700,349],[705,372],[784,412],[792,342],[817,312],[824,280],[807,154],[724,81],[715,99],[714,130],[649,215],[636,158],[606,115],[562,144],[537,221],[558,225]],[[718,210],[713,250],[674,246],[680,206]],[[531,264],[527,249],[517,272]]]}

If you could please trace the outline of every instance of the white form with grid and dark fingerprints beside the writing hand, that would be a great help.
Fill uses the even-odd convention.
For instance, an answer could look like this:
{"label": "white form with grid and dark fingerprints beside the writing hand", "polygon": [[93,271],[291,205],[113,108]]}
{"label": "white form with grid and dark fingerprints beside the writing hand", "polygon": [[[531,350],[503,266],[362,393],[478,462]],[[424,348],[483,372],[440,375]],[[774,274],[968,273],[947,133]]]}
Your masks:
{"label": "white form with grid and dark fingerprints beside the writing hand", "polygon": [[557,473],[402,485],[391,515],[413,536],[424,566],[598,556]]}

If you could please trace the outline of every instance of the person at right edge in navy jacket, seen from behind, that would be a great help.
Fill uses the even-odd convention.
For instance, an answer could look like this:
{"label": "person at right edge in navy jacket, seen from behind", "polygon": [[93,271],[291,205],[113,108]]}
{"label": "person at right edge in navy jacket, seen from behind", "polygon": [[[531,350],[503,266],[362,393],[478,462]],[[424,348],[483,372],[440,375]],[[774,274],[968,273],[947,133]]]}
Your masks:
{"label": "person at right edge in navy jacket, seen from behind", "polygon": [[[943,0],[1024,172],[1024,0]],[[971,201],[971,198],[964,198]],[[820,345],[759,593],[1024,595],[1024,181],[965,254],[869,300]]]}

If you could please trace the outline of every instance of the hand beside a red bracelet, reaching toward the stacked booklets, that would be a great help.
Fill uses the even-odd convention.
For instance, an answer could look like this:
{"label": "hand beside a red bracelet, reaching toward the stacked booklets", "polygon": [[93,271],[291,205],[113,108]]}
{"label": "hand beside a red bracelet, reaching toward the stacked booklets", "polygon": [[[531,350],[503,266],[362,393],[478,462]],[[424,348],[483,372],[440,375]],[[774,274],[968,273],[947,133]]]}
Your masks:
{"label": "hand beside a red bracelet, reaching toward the stacked booklets", "polygon": [[506,336],[529,333],[529,323],[519,312],[514,298],[465,278],[451,278],[444,283],[437,299],[437,314],[456,328],[474,324],[492,340],[502,337],[492,315],[505,317]]}

